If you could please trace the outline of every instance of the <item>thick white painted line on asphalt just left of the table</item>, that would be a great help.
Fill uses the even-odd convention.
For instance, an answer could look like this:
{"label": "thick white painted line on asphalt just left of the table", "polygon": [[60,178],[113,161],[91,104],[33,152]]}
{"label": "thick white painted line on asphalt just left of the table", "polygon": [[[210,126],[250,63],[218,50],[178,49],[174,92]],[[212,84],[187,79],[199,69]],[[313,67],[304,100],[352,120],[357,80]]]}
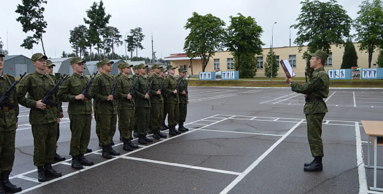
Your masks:
{"label": "thick white painted line on asphalt just left of the table", "polygon": [[359,194],[367,194],[368,188],[367,188],[366,171],[364,168],[362,142],[360,139],[359,122],[355,122],[355,139],[356,139],[356,147],[357,147],[357,166],[358,166],[358,174],[359,174]]}

